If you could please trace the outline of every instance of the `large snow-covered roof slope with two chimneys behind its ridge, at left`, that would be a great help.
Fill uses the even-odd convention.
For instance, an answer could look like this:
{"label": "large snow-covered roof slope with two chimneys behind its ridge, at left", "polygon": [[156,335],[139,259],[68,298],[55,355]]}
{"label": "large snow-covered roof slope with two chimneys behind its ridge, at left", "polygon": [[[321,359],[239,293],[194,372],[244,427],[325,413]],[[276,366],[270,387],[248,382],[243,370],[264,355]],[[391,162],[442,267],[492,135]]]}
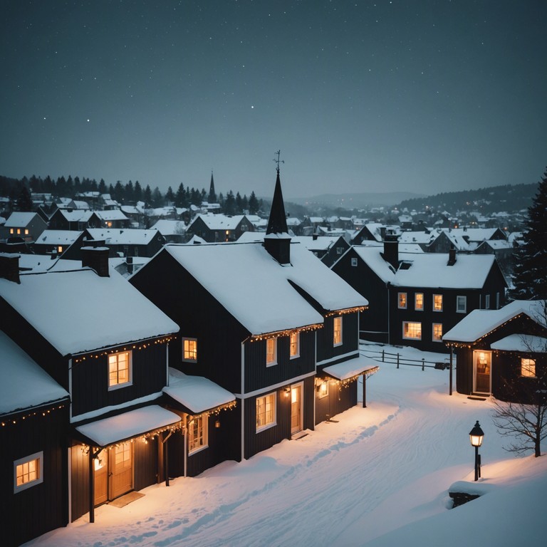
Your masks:
{"label": "large snow-covered roof slope with two chimneys behind its ridge, at left", "polygon": [[22,273],[0,296],[61,355],[177,333],[179,327],[116,271]]}

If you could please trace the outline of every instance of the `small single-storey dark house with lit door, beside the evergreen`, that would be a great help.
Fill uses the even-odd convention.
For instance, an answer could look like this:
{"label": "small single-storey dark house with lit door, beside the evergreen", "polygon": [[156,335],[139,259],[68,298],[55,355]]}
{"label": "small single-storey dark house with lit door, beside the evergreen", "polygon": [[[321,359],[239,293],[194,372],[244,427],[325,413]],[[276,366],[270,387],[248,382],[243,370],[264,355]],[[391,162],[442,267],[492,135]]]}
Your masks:
{"label": "small single-storey dark house with lit door, beside the evergreen", "polygon": [[457,356],[457,392],[523,403],[544,397],[545,301],[513,301],[499,310],[472,311],[443,341]]}

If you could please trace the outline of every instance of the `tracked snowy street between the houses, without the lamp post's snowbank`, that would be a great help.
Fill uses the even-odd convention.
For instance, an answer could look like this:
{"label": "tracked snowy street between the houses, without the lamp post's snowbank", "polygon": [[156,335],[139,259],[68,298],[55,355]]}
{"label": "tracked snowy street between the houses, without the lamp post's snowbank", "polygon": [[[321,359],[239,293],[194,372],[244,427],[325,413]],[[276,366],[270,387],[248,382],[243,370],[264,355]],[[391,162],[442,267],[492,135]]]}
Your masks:
{"label": "tracked snowy street between the houses, without the lamp post's snowbank", "polygon": [[489,403],[448,397],[447,375],[385,365],[369,380],[367,409],[249,461],[151,486],[124,509],[101,506],[94,524],[84,516],[31,545],[351,546],[416,519],[413,507],[445,511],[449,484],[472,472],[474,420],[491,441],[484,462],[506,457],[489,439]]}

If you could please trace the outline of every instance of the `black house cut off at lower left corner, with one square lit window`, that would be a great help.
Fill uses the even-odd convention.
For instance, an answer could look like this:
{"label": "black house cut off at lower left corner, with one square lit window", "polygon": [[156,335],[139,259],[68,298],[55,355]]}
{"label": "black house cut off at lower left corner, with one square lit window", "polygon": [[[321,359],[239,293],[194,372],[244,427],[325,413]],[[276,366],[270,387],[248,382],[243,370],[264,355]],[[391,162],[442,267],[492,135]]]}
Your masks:
{"label": "black house cut off at lower left corner, with one square lit window", "polygon": [[68,391],[0,331],[1,543],[15,547],[68,523]]}

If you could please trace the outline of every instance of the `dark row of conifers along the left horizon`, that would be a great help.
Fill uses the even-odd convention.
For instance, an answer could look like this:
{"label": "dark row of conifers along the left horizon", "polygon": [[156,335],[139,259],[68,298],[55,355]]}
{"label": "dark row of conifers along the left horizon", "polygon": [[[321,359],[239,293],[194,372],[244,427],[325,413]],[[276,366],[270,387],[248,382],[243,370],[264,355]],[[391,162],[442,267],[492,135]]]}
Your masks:
{"label": "dark row of conifers along the left horizon", "polygon": [[[12,209],[18,209],[17,204],[26,202],[26,199],[21,199],[21,194],[32,192],[33,194],[51,194],[53,199],[59,197],[69,197],[78,199],[78,194],[84,192],[99,192],[99,194],[110,194],[112,199],[122,205],[134,205],[137,202],[144,202],[146,208],[165,207],[166,205],[174,207],[190,207],[195,205],[199,207],[202,202],[219,203],[224,214],[242,214],[244,211],[249,211],[249,214],[256,214],[262,207],[262,200],[257,199],[254,192],[251,192],[249,197],[244,195],[241,197],[239,192],[231,190],[224,196],[220,194],[206,192],[204,188],[196,189],[184,187],[184,184],[179,184],[176,192],[173,192],[172,187],[167,189],[165,194],[162,194],[158,187],[150,188],[147,184],[142,188],[140,183],[135,181],[122,184],[118,180],[116,184],[107,184],[103,179],[97,182],[95,179],[71,177],[58,177],[52,179],[46,177],[36,177],[33,175],[30,178],[23,177],[22,179],[11,179],[0,175],[0,197],[9,197],[14,204]],[[84,198],[81,198],[85,201]],[[21,209],[19,209],[21,210]]]}

